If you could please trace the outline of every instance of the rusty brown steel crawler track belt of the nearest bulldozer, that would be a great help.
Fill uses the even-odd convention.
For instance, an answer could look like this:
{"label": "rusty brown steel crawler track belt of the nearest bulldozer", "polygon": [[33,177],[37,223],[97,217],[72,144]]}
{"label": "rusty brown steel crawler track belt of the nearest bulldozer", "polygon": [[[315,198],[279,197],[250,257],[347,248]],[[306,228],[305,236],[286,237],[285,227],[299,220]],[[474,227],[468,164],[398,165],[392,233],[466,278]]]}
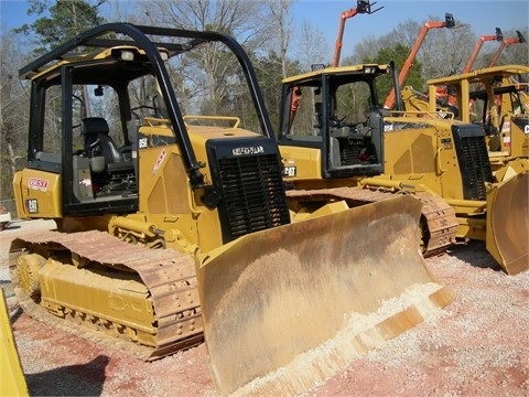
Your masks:
{"label": "rusty brown steel crawler track belt of the nearest bulldozer", "polygon": [[[137,272],[151,296],[158,323],[156,345],[144,346],[61,320],[28,297],[19,286],[18,258],[23,254],[57,251],[69,251],[83,262],[97,262],[105,267]],[[54,328],[125,351],[143,361],[161,358],[195,346],[204,340],[194,260],[173,249],[153,250],[131,245],[99,230],[72,234],[40,232],[13,240],[10,271],[19,304],[29,315]]]}

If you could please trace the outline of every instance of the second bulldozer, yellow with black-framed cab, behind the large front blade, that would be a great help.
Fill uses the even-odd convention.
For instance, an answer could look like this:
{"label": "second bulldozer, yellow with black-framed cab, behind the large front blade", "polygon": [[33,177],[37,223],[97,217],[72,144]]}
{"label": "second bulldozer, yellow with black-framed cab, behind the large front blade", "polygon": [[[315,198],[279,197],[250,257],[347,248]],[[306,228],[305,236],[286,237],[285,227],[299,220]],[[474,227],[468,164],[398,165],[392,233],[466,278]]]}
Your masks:
{"label": "second bulldozer, yellow with black-framed cab, behind the large front blade", "polygon": [[376,64],[283,81],[278,141],[291,208],[301,217],[335,200],[354,207],[412,194],[423,203],[424,255],[486,240],[505,271],[527,270],[527,173],[495,183],[481,125],[384,109],[376,83],[389,75],[398,87],[396,68]]}

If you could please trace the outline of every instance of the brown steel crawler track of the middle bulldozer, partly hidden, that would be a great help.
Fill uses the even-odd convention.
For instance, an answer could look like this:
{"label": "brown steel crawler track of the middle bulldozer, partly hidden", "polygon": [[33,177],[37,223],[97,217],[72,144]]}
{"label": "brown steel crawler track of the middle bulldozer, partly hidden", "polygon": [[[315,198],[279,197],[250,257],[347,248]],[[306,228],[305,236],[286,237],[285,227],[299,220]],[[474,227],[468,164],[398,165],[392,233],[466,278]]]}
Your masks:
{"label": "brown steel crawler track of the middle bulldozer, partly hidden", "polygon": [[[288,200],[304,201],[337,201],[345,200],[350,206],[379,202],[395,197],[395,193],[381,190],[361,187],[331,187],[321,190],[289,190]],[[455,242],[457,218],[455,211],[442,197],[430,194],[413,194],[422,202],[421,217],[425,222],[427,245],[422,247],[422,255],[429,257],[444,251]],[[421,226],[422,227],[422,226]],[[424,243],[424,242],[423,242]]]}

